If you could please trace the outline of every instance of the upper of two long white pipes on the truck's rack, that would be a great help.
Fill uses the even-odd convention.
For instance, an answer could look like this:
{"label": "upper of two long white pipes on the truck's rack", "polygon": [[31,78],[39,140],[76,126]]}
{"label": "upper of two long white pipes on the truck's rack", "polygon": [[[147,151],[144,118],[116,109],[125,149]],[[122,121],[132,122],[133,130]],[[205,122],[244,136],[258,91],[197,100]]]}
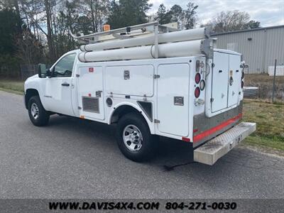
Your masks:
{"label": "upper of two long white pipes on the truck's rack", "polygon": [[[176,31],[172,33],[158,34],[158,43],[180,42],[185,40],[203,39],[207,35],[206,28],[197,28],[185,31]],[[107,50],[113,48],[129,48],[139,45],[153,45],[155,43],[155,35],[143,36],[138,38],[128,38],[123,40],[112,40],[102,43],[93,43],[82,45],[80,49],[83,52]]]}

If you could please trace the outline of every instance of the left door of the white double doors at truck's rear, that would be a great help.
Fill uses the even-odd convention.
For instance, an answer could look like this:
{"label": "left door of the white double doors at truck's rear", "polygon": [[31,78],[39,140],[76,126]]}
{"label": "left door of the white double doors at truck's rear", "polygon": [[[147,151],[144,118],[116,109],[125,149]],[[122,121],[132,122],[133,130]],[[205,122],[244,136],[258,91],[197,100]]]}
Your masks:
{"label": "left door of the white double doors at truck's rear", "polygon": [[211,110],[216,112],[227,107],[229,55],[214,52],[213,62]]}

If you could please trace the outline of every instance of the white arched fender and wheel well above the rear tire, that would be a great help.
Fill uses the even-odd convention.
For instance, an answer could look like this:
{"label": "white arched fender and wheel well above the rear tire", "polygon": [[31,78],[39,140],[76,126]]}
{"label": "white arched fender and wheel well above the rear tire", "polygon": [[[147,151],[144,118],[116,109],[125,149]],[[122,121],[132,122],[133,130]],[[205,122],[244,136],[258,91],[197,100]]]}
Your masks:
{"label": "white arched fender and wheel well above the rear tire", "polygon": [[111,111],[109,115],[109,124],[116,123],[117,121],[119,121],[121,116],[124,116],[125,114],[131,112],[136,112],[138,114],[141,114],[143,119],[147,122],[151,133],[154,133],[153,122],[151,122],[148,119],[147,115],[143,112],[141,108],[139,108],[137,105],[132,103],[120,103],[119,105],[116,105],[116,107],[114,107],[114,110]]}

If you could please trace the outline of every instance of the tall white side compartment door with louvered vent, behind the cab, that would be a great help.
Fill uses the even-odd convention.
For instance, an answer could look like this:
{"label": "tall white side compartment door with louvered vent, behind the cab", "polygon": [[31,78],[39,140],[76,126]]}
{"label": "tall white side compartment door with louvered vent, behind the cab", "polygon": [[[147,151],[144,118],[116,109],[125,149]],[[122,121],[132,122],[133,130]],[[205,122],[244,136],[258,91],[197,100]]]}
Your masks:
{"label": "tall white side compartment door with louvered vent, behind the cab", "polygon": [[78,70],[80,116],[104,119],[103,67],[80,67]]}

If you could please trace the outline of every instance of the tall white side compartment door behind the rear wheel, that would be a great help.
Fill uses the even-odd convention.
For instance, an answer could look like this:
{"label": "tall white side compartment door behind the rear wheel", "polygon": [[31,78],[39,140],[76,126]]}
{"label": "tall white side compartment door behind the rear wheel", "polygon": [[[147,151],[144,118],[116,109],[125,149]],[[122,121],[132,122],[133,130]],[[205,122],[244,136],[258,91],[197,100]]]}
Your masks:
{"label": "tall white side compartment door behind the rear wheel", "polygon": [[159,65],[158,75],[158,131],[175,136],[188,136],[190,65]]}

